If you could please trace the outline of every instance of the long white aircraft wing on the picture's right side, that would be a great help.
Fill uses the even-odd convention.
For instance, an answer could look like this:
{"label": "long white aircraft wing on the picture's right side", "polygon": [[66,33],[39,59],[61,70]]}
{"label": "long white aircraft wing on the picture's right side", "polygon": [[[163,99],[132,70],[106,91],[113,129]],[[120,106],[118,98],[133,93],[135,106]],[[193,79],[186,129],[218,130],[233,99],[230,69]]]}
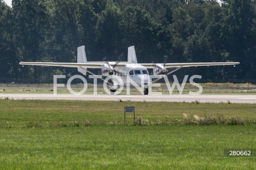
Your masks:
{"label": "long white aircraft wing on the picture's right side", "polygon": [[[175,68],[175,67],[197,67],[197,66],[211,66],[211,65],[236,65],[239,62],[217,62],[217,63],[166,63],[165,68]],[[156,64],[154,63],[142,63],[141,65],[147,67],[148,69],[154,69]],[[163,63],[161,65],[164,65]]]}

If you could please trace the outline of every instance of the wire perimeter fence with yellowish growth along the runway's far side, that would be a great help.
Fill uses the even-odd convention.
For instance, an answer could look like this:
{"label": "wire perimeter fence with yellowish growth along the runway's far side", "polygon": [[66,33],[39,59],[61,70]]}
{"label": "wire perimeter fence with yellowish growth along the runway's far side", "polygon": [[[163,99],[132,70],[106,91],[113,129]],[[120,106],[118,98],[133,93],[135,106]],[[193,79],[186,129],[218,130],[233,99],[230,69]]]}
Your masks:
{"label": "wire perimeter fence with yellowish growth along the runway's far side", "polygon": [[[87,80],[88,91],[93,90],[93,79]],[[183,79],[178,79],[181,84]],[[58,79],[58,83],[65,84],[65,87],[62,89],[67,89],[68,78]],[[200,84],[203,87],[204,91],[247,91],[252,90],[256,92],[256,80],[221,80],[221,79],[194,79],[195,83]],[[161,87],[153,88],[154,91],[167,91],[166,83],[162,80],[156,83],[161,83]],[[170,82],[172,86],[172,82]],[[74,79],[71,81],[71,88],[74,89],[83,89],[84,84],[80,79]],[[103,81],[98,79],[98,89],[103,88]],[[11,78],[0,78],[0,90],[6,89],[24,89],[24,90],[36,90],[36,89],[45,89],[53,90],[53,79],[11,79]],[[61,89],[58,87],[58,89]],[[189,83],[189,79],[186,82],[186,89],[198,89],[193,84]]]}

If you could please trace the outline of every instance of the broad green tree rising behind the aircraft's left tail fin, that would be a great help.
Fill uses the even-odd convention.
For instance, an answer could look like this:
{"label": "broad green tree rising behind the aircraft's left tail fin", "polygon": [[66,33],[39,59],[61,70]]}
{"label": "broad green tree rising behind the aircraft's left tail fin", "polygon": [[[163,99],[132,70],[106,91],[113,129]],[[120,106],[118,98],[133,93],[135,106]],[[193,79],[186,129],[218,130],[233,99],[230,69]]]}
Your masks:
{"label": "broad green tree rising behind the aircraft's left tail fin", "polygon": [[[96,17],[90,1],[47,1],[49,28],[46,31],[44,43],[44,61],[76,62],[76,49],[85,45],[93,49],[94,25]],[[90,58],[90,50],[86,50]],[[47,68],[47,74],[75,74],[76,69]]]}

